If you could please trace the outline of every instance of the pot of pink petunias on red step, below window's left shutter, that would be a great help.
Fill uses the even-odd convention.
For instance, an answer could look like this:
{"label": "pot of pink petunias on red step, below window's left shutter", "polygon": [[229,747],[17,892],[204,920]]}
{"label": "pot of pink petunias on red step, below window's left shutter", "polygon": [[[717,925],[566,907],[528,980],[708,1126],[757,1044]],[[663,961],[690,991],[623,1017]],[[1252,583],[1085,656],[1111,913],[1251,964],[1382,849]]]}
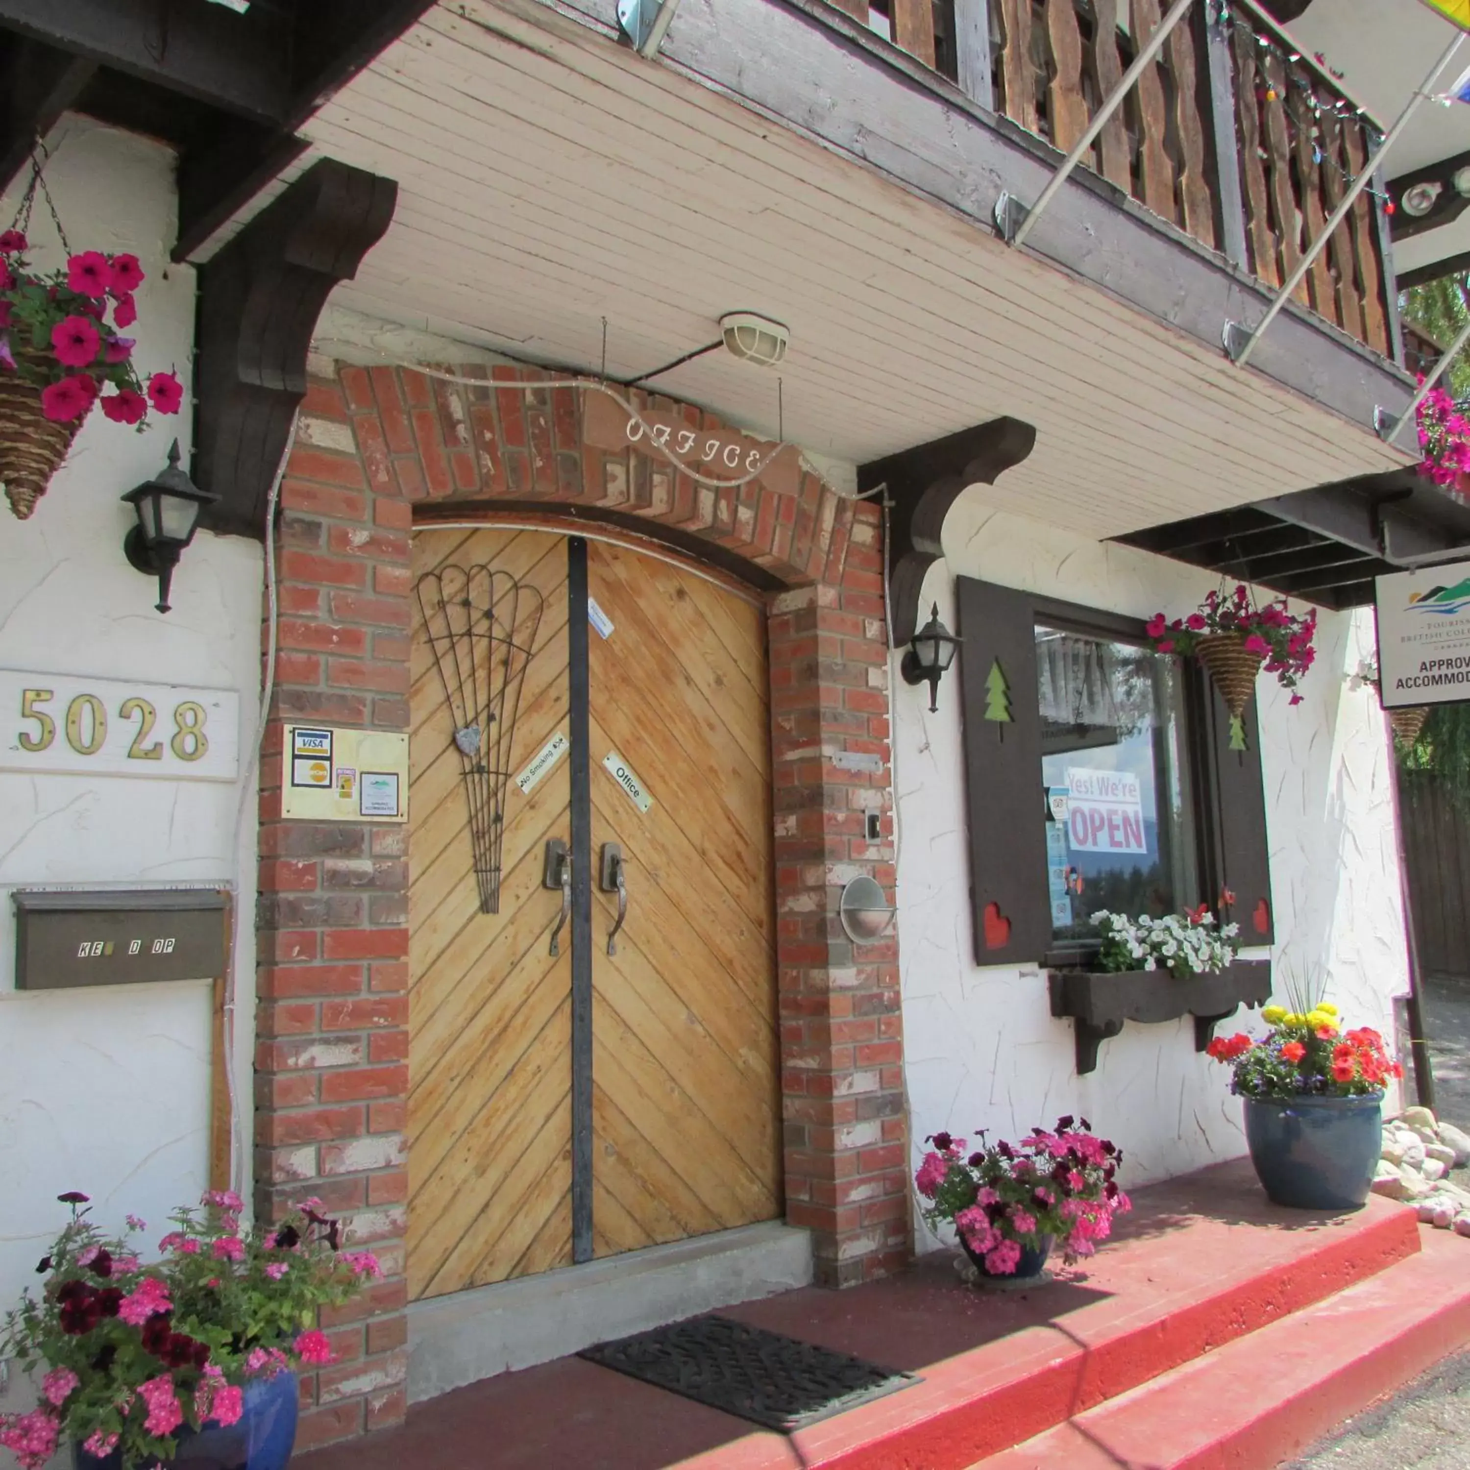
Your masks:
{"label": "pot of pink petunias on red step, below window's left shutter", "polygon": [[969,1154],[950,1133],[928,1142],[933,1148],[914,1175],[929,1201],[923,1217],[935,1229],[953,1226],[983,1276],[1039,1276],[1057,1241],[1069,1264],[1092,1255],[1113,1216],[1129,1208],[1114,1177],[1122,1150],[1095,1138],[1086,1119],[1060,1119],[1019,1144],[986,1145],[982,1130]]}

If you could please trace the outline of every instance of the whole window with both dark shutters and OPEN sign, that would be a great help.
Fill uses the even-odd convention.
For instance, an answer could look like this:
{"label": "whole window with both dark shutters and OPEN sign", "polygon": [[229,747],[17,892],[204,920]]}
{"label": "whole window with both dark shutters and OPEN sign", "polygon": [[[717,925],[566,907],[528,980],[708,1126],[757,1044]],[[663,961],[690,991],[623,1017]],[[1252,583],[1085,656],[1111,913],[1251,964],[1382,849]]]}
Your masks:
{"label": "whole window with both dark shutters and OPEN sign", "polygon": [[1089,914],[1207,903],[1272,941],[1254,704],[1245,750],[1192,660],[1141,619],[958,578],[979,964],[1086,964]]}

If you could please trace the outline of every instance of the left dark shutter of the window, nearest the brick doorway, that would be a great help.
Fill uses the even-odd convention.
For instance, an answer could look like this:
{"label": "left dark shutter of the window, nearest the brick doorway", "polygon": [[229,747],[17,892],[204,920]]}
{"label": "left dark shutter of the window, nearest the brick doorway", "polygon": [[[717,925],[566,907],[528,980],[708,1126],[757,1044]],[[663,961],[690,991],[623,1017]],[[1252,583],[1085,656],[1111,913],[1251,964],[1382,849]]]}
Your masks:
{"label": "left dark shutter of the window, nearest the brick doorway", "polygon": [[[1041,963],[1051,910],[1033,600],[967,576],[956,581],[956,595],[975,958]],[[995,669],[1004,689],[992,681]],[[1001,709],[1008,720],[988,717]]]}

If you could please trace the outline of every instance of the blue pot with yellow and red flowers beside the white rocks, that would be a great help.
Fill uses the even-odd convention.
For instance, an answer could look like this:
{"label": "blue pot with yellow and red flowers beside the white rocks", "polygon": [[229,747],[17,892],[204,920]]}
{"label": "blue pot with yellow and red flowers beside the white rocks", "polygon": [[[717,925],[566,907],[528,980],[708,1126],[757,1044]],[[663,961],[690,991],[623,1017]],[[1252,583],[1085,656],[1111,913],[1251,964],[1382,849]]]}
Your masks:
{"label": "blue pot with yellow and red flowers beside the white rocks", "polygon": [[1267,1197],[1298,1210],[1357,1210],[1383,1142],[1383,1094],[1402,1076],[1370,1026],[1344,1030],[1336,1005],[1295,998],[1267,1005],[1270,1026],[1213,1041],[1245,1100],[1245,1138]]}

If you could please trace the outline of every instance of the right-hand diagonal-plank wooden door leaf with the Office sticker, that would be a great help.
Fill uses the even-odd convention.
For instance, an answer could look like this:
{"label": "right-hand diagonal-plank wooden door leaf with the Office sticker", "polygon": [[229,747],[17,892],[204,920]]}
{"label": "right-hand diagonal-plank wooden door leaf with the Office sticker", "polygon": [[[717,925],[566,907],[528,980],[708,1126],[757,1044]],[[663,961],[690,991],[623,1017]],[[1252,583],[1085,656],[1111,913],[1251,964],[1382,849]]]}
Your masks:
{"label": "right-hand diagonal-plank wooden door leaf with the Office sticker", "polygon": [[[620,844],[628,923],[598,892],[592,958],[598,1255],[782,1210],[764,614],[625,547],[588,548],[594,858]],[[616,750],[653,798],[601,769]]]}

